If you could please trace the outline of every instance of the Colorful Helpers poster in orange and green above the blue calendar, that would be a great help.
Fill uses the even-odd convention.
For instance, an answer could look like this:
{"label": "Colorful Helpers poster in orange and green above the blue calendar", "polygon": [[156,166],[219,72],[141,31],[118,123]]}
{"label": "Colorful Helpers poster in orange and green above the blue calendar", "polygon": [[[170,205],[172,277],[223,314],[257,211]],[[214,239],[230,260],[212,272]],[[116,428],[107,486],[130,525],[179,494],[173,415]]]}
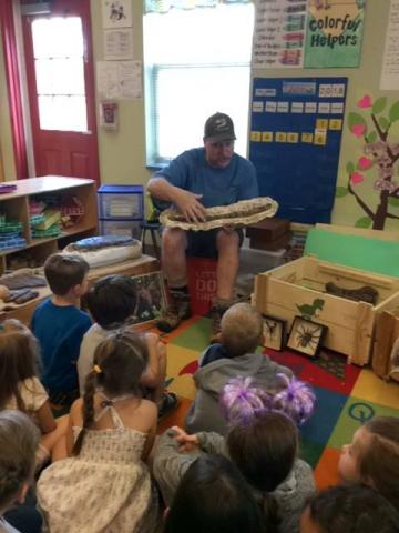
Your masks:
{"label": "Colorful Helpers poster in orange and green above the blue calendar", "polygon": [[366,0],[309,0],[305,68],[358,67]]}

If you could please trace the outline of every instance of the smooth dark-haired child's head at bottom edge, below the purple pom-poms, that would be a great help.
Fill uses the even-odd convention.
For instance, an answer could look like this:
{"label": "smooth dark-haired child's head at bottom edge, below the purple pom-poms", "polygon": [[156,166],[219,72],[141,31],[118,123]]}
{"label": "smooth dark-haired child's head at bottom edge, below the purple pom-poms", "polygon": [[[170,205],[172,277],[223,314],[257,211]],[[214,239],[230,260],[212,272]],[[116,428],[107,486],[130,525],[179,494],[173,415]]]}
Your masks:
{"label": "smooth dark-haired child's head at bottom edge, below the purple pom-poms", "polygon": [[204,455],[183,475],[164,533],[272,533],[238,469],[221,455]]}

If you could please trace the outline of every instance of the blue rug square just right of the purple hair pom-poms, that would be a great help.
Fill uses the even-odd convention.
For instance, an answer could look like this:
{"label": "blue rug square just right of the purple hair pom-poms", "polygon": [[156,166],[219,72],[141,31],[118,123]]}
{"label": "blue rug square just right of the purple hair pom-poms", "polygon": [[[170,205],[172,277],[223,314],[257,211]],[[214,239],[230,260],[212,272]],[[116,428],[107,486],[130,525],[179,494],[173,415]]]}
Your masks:
{"label": "blue rug square just right of the purple hair pom-poms", "polygon": [[325,445],[337,423],[348,396],[314,386],[317,396],[316,410],[301,428],[304,439]]}

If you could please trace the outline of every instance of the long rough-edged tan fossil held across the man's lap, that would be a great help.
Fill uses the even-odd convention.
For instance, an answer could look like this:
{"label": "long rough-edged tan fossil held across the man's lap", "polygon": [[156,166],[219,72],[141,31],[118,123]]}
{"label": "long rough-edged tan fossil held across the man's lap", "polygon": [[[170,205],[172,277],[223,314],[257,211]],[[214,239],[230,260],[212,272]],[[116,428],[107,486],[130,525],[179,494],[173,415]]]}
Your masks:
{"label": "long rough-edged tan fossil held across the man's lap", "polygon": [[243,228],[255,224],[260,220],[273,217],[278,209],[278,203],[269,197],[242,200],[231,205],[206,209],[204,222],[188,222],[176,209],[166,209],[160,215],[160,222],[165,228],[181,228],[182,230],[207,231],[224,225]]}

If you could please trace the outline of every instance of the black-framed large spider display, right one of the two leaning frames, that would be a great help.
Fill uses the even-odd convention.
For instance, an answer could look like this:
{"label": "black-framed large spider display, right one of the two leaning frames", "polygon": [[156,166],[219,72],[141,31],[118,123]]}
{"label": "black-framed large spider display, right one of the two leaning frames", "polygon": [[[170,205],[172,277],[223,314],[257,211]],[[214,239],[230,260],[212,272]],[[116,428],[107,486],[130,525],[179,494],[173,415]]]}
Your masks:
{"label": "black-framed large spider display, right one of the two leaning frames", "polygon": [[288,335],[287,348],[314,358],[321,348],[328,328],[318,322],[295,316]]}

